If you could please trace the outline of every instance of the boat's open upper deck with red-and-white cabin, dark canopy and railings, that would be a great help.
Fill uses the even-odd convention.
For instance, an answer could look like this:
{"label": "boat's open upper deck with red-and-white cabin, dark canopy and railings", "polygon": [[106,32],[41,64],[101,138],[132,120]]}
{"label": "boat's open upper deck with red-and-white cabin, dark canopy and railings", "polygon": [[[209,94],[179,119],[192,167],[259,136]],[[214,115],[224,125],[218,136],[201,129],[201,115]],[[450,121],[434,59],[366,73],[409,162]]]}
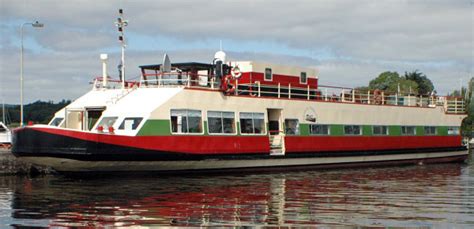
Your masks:
{"label": "boat's open upper deck with red-and-white cabin, dark canopy and railings", "polygon": [[[240,71],[239,77],[230,77],[236,67]],[[197,62],[173,63],[168,71],[162,71],[161,64],[143,65],[140,68],[141,79],[139,82],[127,82],[129,90],[133,88],[184,87],[186,89],[222,91],[227,96],[377,106],[424,108],[443,106],[447,114],[466,113],[464,100],[461,97],[416,95],[403,92],[386,93],[380,90],[360,91],[349,87],[319,85],[318,72],[311,68],[252,61],[229,62],[222,65],[220,70],[216,64]],[[100,78],[97,78],[96,88],[101,88],[100,82]],[[227,90],[229,85],[233,90]],[[125,95],[126,93],[123,96]]]}

